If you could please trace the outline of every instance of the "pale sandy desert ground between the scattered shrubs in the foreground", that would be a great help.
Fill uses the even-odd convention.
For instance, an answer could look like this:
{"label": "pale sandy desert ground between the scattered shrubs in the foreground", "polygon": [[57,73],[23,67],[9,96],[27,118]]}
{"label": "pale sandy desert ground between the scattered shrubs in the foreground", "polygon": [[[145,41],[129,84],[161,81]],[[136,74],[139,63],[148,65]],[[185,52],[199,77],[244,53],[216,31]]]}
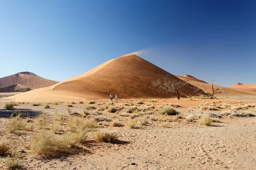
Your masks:
{"label": "pale sandy desert ground between the scattered shrubs in the foreground", "polygon": [[[130,100],[121,100],[118,104],[123,105]],[[136,99],[132,100],[136,102]],[[81,149],[72,152],[61,153],[58,156],[43,158],[31,153],[29,142],[33,133],[37,130],[22,131],[20,135],[6,133],[6,126],[11,118],[9,115],[14,110],[29,111],[32,122],[36,115],[45,113],[49,122],[54,120],[55,109],[60,113],[67,111],[67,103],[43,106],[32,106],[32,103],[24,103],[15,106],[14,110],[7,111],[4,107],[4,99],[0,99],[0,140],[9,136],[9,139],[20,142],[17,147],[21,151],[20,161],[23,169],[28,170],[222,170],[222,169],[254,169],[256,166],[256,117],[229,117],[224,116],[221,122],[212,123],[211,126],[199,125],[197,120],[187,122],[186,119],[178,119],[177,116],[162,116],[157,110],[163,103],[178,103],[181,107],[175,108],[186,118],[188,108],[195,108],[201,103],[221,102],[238,106],[245,103],[256,103],[238,100],[159,100],[154,102],[152,116],[157,121],[150,121],[147,126],[137,125],[136,129],[127,127],[126,122],[130,117],[122,117],[115,113],[103,111],[112,121],[121,122],[123,127],[98,125],[89,131],[90,138]],[[87,101],[86,101],[87,102]],[[96,101],[105,105],[108,101]],[[105,104],[104,104],[105,103]],[[152,102],[145,102],[151,104]],[[240,104],[239,104],[240,103]],[[86,104],[73,104],[70,108],[78,113],[83,112]],[[96,105],[99,107],[101,105]],[[220,113],[221,110],[211,111]],[[250,109],[256,114],[256,109]],[[86,118],[87,119],[87,118]],[[163,127],[163,123],[167,127]],[[61,127],[61,132],[66,127]],[[95,140],[97,131],[117,132],[119,142],[116,144],[98,142]],[[6,133],[6,134],[5,134]],[[135,163],[136,165],[132,165]],[[0,165],[1,166],[1,165]],[[1,168],[1,167],[0,167]]]}

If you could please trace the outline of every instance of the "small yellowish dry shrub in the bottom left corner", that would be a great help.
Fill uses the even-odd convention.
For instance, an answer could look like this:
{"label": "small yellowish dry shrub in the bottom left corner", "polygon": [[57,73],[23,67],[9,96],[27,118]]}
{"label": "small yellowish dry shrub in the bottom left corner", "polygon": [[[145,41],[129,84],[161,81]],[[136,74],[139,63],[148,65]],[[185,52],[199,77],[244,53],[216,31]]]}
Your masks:
{"label": "small yellowish dry shrub in the bottom left corner", "polygon": [[[6,170],[17,170],[20,169],[22,163],[18,160],[20,157],[20,152],[14,152],[11,155],[8,155],[4,161],[3,166]],[[0,162],[2,159],[0,159]]]}

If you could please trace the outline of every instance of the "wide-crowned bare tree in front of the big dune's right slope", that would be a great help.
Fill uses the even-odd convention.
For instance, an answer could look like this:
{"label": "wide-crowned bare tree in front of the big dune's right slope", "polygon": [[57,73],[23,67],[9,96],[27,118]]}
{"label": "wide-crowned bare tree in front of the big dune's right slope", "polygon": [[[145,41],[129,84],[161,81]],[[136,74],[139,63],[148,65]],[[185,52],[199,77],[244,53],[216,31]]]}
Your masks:
{"label": "wide-crowned bare tree in front of the big dune's right slope", "polygon": [[167,76],[163,77],[161,79],[157,79],[156,82],[153,82],[153,86],[159,87],[160,92],[166,92],[166,93],[176,93],[177,99],[180,99],[179,90],[180,88],[183,88],[183,86],[188,85],[188,79],[180,79],[179,81],[169,79]]}

